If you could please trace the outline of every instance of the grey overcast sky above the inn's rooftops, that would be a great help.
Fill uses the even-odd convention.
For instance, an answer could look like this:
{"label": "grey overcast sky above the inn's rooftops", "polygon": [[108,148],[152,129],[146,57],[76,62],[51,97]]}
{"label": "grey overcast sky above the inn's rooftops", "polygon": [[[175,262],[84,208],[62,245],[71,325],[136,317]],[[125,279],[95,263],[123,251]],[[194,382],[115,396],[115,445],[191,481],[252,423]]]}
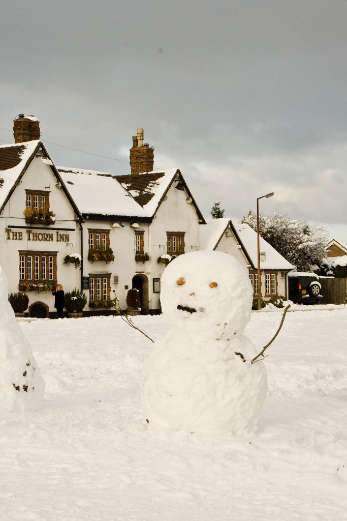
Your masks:
{"label": "grey overcast sky above the inn's rooftops", "polygon": [[347,240],[346,19],[346,0],[2,3],[0,144],[34,115],[56,165],[121,174],[144,128],[206,218],[275,192],[265,214]]}

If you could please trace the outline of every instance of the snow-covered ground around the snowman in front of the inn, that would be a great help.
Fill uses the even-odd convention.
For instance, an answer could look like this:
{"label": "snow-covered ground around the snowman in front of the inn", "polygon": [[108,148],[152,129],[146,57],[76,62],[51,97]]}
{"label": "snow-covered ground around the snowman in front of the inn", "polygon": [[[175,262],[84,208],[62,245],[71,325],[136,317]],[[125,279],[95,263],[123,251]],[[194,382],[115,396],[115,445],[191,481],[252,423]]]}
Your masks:
{"label": "snow-covered ground around the snowman in front of the inn", "polygon": [[[0,418],[1,521],[345,521],[347,307],[288,313],[246,437],[153,432],[140,413],[152,343],[120,317],[20,321],[45,406]],[[279,312],[252,313],[261,348]],[[134,317],[153,339],[161,316]]]}

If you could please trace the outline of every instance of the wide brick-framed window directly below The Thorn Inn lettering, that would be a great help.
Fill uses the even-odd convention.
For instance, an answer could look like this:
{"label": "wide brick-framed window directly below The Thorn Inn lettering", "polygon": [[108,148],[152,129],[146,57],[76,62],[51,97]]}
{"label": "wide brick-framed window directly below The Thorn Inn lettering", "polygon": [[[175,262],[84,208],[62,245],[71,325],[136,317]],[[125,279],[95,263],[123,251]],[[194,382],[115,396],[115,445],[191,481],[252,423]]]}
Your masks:
{"label": "wide brick-framed window directly below The Thorn Inn lettering", "polygon": [[57,252],[19,250],[19,280],[57,280]]}

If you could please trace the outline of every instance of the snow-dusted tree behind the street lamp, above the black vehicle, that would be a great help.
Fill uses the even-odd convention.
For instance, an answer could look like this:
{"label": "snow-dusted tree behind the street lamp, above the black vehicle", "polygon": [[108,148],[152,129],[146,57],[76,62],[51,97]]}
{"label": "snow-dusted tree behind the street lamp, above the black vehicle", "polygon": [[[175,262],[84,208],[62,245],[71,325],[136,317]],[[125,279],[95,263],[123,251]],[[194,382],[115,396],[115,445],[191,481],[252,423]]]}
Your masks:
{"label": "snow-dusted tree behind the street lamp, above the black vehicle", "polygon": [[[249,212],[242,222],[256,231],[256,215]],[[298,271],[312,271],[326,257],[327,244],[323,227],[311,227],[307,222],[293,220],[288,214],[274,212],[259,216],[259,233]]]}

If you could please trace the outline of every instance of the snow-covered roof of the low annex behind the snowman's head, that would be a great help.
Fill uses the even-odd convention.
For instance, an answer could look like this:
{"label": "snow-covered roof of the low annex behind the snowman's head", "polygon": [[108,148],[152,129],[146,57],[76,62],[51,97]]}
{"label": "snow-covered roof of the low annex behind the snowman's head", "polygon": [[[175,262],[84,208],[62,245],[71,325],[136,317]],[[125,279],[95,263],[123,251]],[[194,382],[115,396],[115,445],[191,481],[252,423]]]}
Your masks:
{"label": "snow-covered roof of the low annex behind the snowman's head", "polygon": [[[200,249],[214,250],[221,240],[225,230],[230,226],[236,234],[236,239],[245,254],[250,258],[254,267],[258,266],[258,243],[256,232],[247,224],[242,223],[237,217],[206,219],[205,225],[200,226]],[[293,269],[292,266],[282,255],[280,255],[262,237],[259,238],[260,251],[265,252],[265,261],[262,261],[261,269]]]}

